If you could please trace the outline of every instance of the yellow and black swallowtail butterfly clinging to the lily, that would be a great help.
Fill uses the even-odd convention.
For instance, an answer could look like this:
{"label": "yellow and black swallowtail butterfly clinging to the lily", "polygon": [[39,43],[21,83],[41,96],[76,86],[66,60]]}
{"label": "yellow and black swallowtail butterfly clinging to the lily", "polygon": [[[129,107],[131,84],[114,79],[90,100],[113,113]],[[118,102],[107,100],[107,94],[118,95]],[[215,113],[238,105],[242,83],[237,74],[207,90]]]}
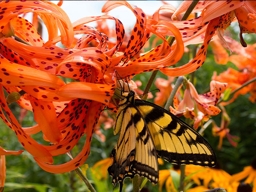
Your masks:
{"label": "yellow and black swallowtail butterfly clinging to the lily", "polygon": [[119,138],[108,168],[120,192],[124,179],[136,174],[156,184],[158,157],[173,164],[215,166],[210,144],[188,124],[156,104],[135,99],[134,91],[122,95],[114,125]]}

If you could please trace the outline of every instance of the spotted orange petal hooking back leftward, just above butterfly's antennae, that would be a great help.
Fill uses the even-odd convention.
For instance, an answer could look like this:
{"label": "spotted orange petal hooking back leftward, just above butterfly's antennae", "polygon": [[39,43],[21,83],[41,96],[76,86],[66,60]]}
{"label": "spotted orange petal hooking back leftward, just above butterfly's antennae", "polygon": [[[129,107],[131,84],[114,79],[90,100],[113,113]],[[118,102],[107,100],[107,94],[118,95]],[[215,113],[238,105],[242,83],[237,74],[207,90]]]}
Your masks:
{"label": "spotted orange petal hooking back leftward, just above butterfly's antennae", "polygon": [[[128,62],[125,66],[116,66],[115,69],[122,77],[171,66],[176,64],[183,55],[184,45],[182,38],[180,32],[173,24],[167,21],[160,21],[156,23],[156,21],[150,19],[148,19],[148,22],[155,23],[148,29],[162,38],[164,43],[145,55],[136,58],[136,60]],[[177,44],[172,46],[172,50],[164,38],[164,35],[168,35],[169,32],[174,34],[177,41]]]}

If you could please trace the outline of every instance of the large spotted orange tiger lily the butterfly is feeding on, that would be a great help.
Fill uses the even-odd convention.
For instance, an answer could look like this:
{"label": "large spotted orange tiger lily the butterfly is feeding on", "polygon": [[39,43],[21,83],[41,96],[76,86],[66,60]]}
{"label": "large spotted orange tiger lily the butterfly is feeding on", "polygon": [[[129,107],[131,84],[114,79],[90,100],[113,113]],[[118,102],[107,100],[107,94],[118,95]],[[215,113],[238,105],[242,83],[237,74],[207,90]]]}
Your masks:
{"label": "large spotted orange tiger lily the butterfly is feeding on", "polygon": [[[52,173],[63,173],[81,166],[90,153],[92,134],[102,110],[110,105],[116,88],[116,73],[132,77],[138,73],[163,69],[175,64],[183,54],[184,45],[178,29],[166,21],[147,19],[138,7],[126,1],[108,1],[102,12],[126,6],[136,16],[136,24],[124,52],[118,52],[124,41],[124,27],[120,20],[102,15],[82,18],[71,23],[66,13],[48,1],[0,2],[4,7],[0,16],[0,101],[8,119],[0,108],[0,116],[16,133],[22,146],[34,156],[38,165]],[[43,42],[36,28],[20,14],[35,12],[48,29],[49,40]],[[116,22],[116,45],[108,48],[108,37],[88,22],[110,19]],[[10,22],[11,21],[11,22]],[[60,36],[58,36],[58,28]],[[74,44],[74,35],[82,36]],[[152,34],[164,42],[150,52],[135,58]],[[176,45],[170,47],[166,35],[174,35]],[[16,39],[20,38],[18,42]],[[96,40],[96,47],[88,43]],[[66,49],[55,46],[61,41]],[[75,79],[64,82],[58,76]],[[4,89],[8,94],[24,91],[17,103],[34,112],[38,123],[22,128],[8,108]],[[9,104],[9,102],[8,102]],[[39,144],[30,135],[42,131],[44,140],[54,145]],[[86,133],[81,152],[69,162],[53,165],[53,156],[69,152]],[[20,154],[0,148],[0,155]]]}

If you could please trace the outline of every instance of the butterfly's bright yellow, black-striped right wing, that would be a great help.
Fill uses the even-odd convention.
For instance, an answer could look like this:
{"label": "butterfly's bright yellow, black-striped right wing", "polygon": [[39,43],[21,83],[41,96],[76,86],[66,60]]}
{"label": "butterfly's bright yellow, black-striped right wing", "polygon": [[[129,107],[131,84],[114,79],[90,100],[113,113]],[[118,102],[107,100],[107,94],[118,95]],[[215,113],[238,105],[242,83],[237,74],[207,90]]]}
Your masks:
{"label": "butterfly's bright yellow, black-striped right wing", "polygon": [[174,164],[216,164],[208,142],[180,118],[144,100],[135,100],[134,105],[144,117],[158,156]]}

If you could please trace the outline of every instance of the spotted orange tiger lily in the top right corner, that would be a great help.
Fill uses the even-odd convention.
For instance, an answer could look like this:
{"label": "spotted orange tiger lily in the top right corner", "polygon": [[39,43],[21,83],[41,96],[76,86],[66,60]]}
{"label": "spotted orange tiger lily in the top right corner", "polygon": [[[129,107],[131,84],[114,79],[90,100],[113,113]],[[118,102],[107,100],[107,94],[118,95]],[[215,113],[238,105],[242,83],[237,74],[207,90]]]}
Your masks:
{"label": "spotted orange tiger lily in the top right corner", "polygon": [[[175,20],[179,14],[184,13],[192,1],[183,1],[182,4],[172,14],[172,20]],[[155,13],[159,17],[159,11],[172,12],[172,8],[166,5],[159,8]],[[182,34],[184,46],[188,44],[202,43],[196,56],[189,63],[175,68],[164,68],[161,70],[168,76],[181,76],[191,73],[204,64],[208,44],[214,35],[218,35],[220,40],[229,48],[223,37],[223,30],[230,26],[234,17],[237,18],[240,26],[240,40],[243,46],[246,46],[242,38],[242,33],[255,33],[255,2],[254,1],[199,1],[192,13],[202,12],[198,18],[174,21],[174,24]],[[217,32],[217,33],[215,33]],[[175,42],[174,42],[175,44]],[[231,48],[229,48],[232,54]]]}

